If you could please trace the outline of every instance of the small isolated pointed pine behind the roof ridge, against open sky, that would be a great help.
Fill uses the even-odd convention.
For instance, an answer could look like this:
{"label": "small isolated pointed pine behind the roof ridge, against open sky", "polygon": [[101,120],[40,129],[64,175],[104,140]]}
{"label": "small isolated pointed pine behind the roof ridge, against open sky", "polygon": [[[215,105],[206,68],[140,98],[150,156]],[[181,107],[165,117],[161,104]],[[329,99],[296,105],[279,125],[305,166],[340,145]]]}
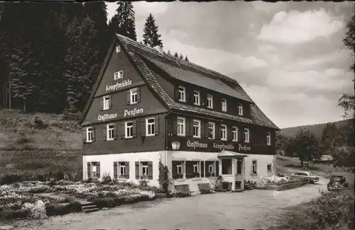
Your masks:
{"label": "small isolated pointed pine behind the roof ridge, against open sky", "polygon": [[146,24],[144,24],[143,32],[144,45],[149,45],[150,47],[163,45],[163,41],[160,40],[161,35],[158,34],[158,25],[155,25],[155,19],[151,13],[149,13]]}

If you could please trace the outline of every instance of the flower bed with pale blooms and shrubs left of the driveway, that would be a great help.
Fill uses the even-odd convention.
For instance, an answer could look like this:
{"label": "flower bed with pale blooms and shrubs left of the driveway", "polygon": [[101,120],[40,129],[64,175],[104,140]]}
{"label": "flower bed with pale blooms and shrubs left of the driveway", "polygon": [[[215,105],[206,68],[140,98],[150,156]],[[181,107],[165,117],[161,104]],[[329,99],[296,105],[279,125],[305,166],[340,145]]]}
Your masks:
{"label": "flower bed with pale blooms and shrubs left of the driveway", "polygon": [[[98,207],[114,207],[116,205],[153,200],[157,188],[141,187],[129,183],[73,183],[58,181],[48,183],[13,183],[0,186],[0,216],[7,219],[31,217],[43,219],[52,215],[80,212],[80,202],[73,197],[81,198]],[[38,193],[53,192],[62,194],[51,198]],[[64,196],[67,197],[64,197]],[[60,197],[60,198],[59,198]]]}

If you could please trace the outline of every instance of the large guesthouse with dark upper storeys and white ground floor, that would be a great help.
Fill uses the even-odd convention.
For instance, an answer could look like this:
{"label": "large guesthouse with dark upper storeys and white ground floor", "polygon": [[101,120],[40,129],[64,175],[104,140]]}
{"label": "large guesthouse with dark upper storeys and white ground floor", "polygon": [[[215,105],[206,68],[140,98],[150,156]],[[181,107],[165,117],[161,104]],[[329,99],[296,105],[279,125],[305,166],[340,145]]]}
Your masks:
{"label": "large guesthouse with dark upper storeys and white ground floor", "polygon": [[158,186],[158,163],[176,186],[232,188],[274,172],[275,132],[237,81],[117,35],[87,102],[83,178],[110,175]]}

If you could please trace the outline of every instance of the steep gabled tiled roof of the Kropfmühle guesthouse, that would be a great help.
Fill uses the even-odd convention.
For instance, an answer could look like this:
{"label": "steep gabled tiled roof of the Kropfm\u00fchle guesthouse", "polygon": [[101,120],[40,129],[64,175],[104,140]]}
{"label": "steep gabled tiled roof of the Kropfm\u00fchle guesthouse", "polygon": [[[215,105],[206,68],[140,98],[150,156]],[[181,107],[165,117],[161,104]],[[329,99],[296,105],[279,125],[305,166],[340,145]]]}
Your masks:
{"label": "steep gabled tiled roof of the Kropfm\u00fchle guesthouse", "polygon": [[[236,80],[231,79],[228,76],[224,76],[223,74],[219,74],[216,71],[212,71],[210,69],[200,67],[199,65],[193,64],[192,62],[187,62],[185,60],[175,58],[168,54],[161,54],[160,52],[158,52],[158,50],[155,50],[154,48],[148,47],[139,42],[131,40],[130,38],[126,38],[125,36],[117,35],[117,38],[119,39],[119,42],[123,46],[123,49],[126,52],[128,52],[131,60],[136,65],[138,71],[141,72],[141,75],[143,76],[143,79],[146,81],[148,86],[161,98],[162,102],[171,110],[187,111],[187,112],[197,113],[201,115],[212,115],[214,117],[219,117],[221,119],[235,120],[235,121],[245,122],[253,125],[271,127],[273,129],[279,130],[279,128],[273,122],[271,122],[271,120],[269,120],[268,117],[266,117],[266,115],[263,114],[263,112],[261,112],[260,108],[258,108],[258,106],[255,103],[253,103],[253,100],[251,100],[249,95],[244,91],[243,88],[241,88],[241,86]],[[105,59],[104,65],[102,67],[102,71],[104,71],[106,63],[108,61],[107,59],[109,58],[109,55],[111,54],[111,50],[113,49],[113,47],[114,45],[112,44],[110,47],[110,51],[107,54],[107,58]],[[252,119],[248,117],[229,115],[214,110],[207,110],[204,108],[198,108],[196,106],[185,105],[185,104],[175,102],[175,100],[173,100],[173,98],[170,98],[168,93],[166,93],[165,90],[160,86],[157,79],[155,79],[155,77],[151,73],[151,70],[147,67],[146,62],[153,62],[153,64],[158,66],[160,69],[163,69],[163,71],[167,72],[170,76],[176,79],[180,79],[182,81],[184,81],[182,79],[184,76],[179,76],[179,74],[190,74],[190,76],[192,76],[192,79],[190,79],[190,83],[192,84],[198,84],[202,86],[203,82],[197,81],[197,78],[198,80],[200,80],[202,79],[202,77],[204,78],[204,81],[209,81],[209,84],[212,83],[218,84],[219,86],[223,87],[223,88],[218,88],[219,92],[222,92],[227,95],[233,95],[236,98],[240,98],[241,100],[246,100],[252,103],[251,106]],[[84,119],[84,115],[87,113],[87,110],[89,109],[89,105],[91,105],[92,103],[94,93],[97,90],[99,82],[102,79],[103,76],[102,71],[100,71],[100,75],[94,86],[92,95],[90,96],[87,106],[85,107],[82,117],[80,118],[80,124],[82,123],[82,120]],[[185,81],[188,80],[186,79],[186,77],[184,79]],[[206,88],[213,89],[213,86],[208,85]]]}

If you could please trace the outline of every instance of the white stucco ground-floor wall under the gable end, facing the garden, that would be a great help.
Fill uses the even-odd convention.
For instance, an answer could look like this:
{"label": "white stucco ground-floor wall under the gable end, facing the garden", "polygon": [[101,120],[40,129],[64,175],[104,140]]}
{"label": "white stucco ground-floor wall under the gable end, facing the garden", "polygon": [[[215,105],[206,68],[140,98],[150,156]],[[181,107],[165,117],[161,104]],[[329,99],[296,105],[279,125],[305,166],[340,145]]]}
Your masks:
{"label": "white stucco ground-floor wall under the gable end, facing the garden", "polygon": [[136,161],[152,161],[153,162],[153,180],[150,180],[148,185],[159,186],[159,160],[160,156],[163,157],[164,151],[148,151],[139,153],[127,154],[104,154],[104,155],[90,155],[82,156],[83,180],[87,180],[87,162],[98,161],[100,162],[100,178],[109,173],[111,178],[114,177],[114,161],[129,161],[129,179],[121,179],[119,181],[126,181],[138,183],[136,180]]}

